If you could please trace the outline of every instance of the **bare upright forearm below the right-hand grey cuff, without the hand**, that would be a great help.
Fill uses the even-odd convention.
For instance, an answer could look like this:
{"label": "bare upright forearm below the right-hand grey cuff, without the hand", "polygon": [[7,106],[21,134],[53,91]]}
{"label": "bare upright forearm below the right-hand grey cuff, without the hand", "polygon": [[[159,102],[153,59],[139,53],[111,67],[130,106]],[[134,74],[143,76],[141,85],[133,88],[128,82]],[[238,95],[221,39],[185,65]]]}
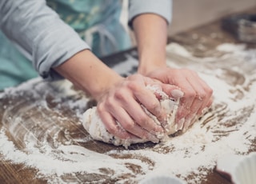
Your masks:
{"label": "bare upright forearm below the right-hand grey cuff, without the hand", "polygon": [[167,22],[157,14],[141,14],[133,21],[140,74],[166,66]]}

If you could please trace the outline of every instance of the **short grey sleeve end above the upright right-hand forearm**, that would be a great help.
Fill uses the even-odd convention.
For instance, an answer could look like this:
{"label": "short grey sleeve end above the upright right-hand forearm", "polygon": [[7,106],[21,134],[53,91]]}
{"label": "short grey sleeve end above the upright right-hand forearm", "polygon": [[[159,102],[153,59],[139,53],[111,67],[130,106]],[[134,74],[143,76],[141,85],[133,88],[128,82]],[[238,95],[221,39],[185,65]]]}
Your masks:
{"label": "short grey sleeve end above the upright right-hand forearm", "polygon": [[172,0],[130,0],[129,26],[132,28],[133,19],[139,14],[158,14],[170,24],[172,17]]}

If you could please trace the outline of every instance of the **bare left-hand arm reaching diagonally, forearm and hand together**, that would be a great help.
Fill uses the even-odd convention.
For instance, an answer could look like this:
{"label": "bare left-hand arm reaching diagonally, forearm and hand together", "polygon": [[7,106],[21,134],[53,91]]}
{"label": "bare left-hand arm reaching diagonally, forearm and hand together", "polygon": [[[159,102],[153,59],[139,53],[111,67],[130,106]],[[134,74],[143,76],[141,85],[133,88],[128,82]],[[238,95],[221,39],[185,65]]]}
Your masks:
{"label": "bare left-hand arm reaching diagonally, forearm and hand together", "polygon": [[54,70],[98,102],[97,110],[102,122],[110,134],[118,138],[137,136],[158,142],[156,135],[163,132],[162,126],[156,125],[142,106],[159,122],[166,119],[166,114],[161,109],[158,95],[148,90],[147,85],[158,84],[166,94],[180,98],[174,93],[177,86],[163,84],[141,74],[122,78],[90,50],[82,50]]}

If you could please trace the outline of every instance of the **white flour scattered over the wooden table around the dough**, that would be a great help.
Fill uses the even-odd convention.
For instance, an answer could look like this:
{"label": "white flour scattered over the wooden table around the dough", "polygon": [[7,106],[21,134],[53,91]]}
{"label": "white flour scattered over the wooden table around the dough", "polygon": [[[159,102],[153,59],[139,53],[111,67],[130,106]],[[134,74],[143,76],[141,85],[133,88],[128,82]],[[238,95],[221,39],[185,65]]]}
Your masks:
{"label": "white flour scattered over the wooden table around the dough", "polygon": [[[75,173],[106,174],[109,178],[119,178],[121,183],[136,183],[152,174],[174,174],[184,180],[190,176],[188,183],[200,183],[205,179],[207,171],[214,168],[217,159],[222,155],[246,154],[252,142],[255,146],[256,140],[256,74],[254,72],[256,56],[253,54],[256,50],[245,50],[242,46],[226,44],[217,48],[226,52],[222,58],[211,58],[211,60],[207,58],[207,62],[204,62],[203,58],[194,58],[178,44],[171,44],[168,48],[170,47],[172,50],[167,49],[167,52],[181,54],[184,60],[189,60],[186,65],[197,70],[214,89],[213,109],[194,123],[186,134],[142,149],[112,149],[106,153],[98,153],[82,145],[74,144],[74,141],[86,144],[90,138],[70,138],[72,139],[70,143],[63,144],[53,136],[56,143],[54,146],[47,141],[47,138],[41,140],[41,146],[38,146],[36,134],[27,130],[25,136],[22,137],[24,146],[18,148],[14,140],[6,135],[11,128],[16,127],[17,123],[22,126],[22,119],[8,116],[10,106],[14,106],[10,102],[10,106],[2,106],[2,111],[5,111],[3,118],[12,118],[14,124],[10,126],[14,127],[2,126],[0,130],[0,158],[14,164],[22,163],[24,166],[35,168],[38,170],[37,177],[46,178],[50,183],[65,183],[62,176],[72,174],[75,178]],[[247,64],[250,67],[245,65],[248,57],[250,61]],[[179,61],[175,62],[172,58],[168,60],[170,66],[178,66],[178,63]],[[242,64],[238,67],[238,63]],[[39,84],[35,86],[35,83]],[[38,101],[38,105],[47,108],[45,102],[47,95],[39,93],[47,85],[49,84],[42,82],[41,79],[35,79],[18,88],[7,89],[0,94],[0,103],[6,94],[15,95],[22,91],[26,92],[26,90],[31,92],[31,86],[34,86],[33,89],[37,92],[33,95],[42,98]],[[54,97],[54,102],[62,102],[62,98],[66,95],[70,97],[75,95],[69,84],[60,88],[54,87],[54,90],[59,90]],[[82,122],[82,111],[79,109],[86,106],[85,103],[89,102],[89,98],[65,102],[70,109],[78,109],[74,112]],[[27,128],[23,126],[24,129]],[[52,131],[54,127],[49,127],[49,134]],[[70,132],[66,130],[65,134],[69,135]],[[138,166],[140,171],[130,170],[127,163]],[[103,172],[102,168],[109,170],[109,173]],[[130,174],[130,177],[123,178],[123,174]]]}

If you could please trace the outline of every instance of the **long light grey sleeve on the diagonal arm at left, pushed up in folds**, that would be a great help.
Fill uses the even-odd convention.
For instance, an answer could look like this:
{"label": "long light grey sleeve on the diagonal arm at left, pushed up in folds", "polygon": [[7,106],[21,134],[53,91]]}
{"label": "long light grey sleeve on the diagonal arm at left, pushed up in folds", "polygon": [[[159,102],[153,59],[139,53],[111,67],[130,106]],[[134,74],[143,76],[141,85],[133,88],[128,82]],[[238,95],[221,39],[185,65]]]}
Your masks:
{"label": "long light grey sleeve on the diagonal arm at left, pushed up in folds", "polygon": [[45,0],[1,0],[0,28],[31,56],[34,68],[46,79],[60,78],[52,67],[90,49]]}

